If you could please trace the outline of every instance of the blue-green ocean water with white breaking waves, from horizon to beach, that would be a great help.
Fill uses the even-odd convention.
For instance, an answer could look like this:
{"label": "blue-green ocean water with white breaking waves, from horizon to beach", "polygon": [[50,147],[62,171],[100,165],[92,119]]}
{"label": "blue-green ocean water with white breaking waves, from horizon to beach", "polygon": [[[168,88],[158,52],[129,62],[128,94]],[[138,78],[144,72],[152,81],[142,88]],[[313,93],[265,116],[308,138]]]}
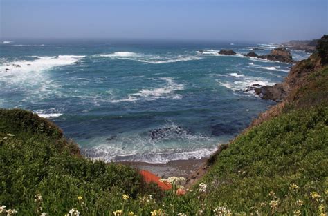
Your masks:
{"label": "blue-green ocean water with white breaking waves, from horizon to beach", "polygon": [[[0,45],[0,107],[50,118],[85,155],[165,163],[208,157],[274,104],[245,91],[275,84],[291,64],[275,44],[21,40]],[[237,55],[218,55],[222,48]],[[198,52],[203,50],[203,53]],[[293,59],[309,54],[292,50]]]}

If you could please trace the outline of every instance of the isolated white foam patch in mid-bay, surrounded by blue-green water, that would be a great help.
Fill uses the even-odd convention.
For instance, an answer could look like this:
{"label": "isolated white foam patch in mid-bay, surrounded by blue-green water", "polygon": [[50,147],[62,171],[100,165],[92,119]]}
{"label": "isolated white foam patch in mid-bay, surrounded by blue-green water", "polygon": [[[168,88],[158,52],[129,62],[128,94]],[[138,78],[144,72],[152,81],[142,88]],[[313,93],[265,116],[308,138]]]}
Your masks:
{"label": "isolated white foam patch in mid-bay, surrounded by blue-green water", "polygon": [[183,84],[176,84],[176,82],[170,77],[162,77],[160,79],[167,82],[165,86],[160,88],[141,89],[134,94],[129,94],[125,99],[116,99],[111,102],[133,102],[140,99],[154,100],[158,98],[181,99],[181,95],[174,94],[174,91],[183,90]]}

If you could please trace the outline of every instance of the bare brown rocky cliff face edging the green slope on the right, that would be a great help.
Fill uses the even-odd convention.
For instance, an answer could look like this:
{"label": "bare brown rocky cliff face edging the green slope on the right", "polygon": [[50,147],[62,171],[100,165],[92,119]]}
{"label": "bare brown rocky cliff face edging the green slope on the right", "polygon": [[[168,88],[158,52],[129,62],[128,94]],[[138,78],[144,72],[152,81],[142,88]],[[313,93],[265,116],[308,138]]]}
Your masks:
{"label": "bare brown rocky cliff face edging the green slope on the right", "polygon": [[[280,51],[280,50],[278,50]],[[280,52],[276,52],[280,53]],[[299,61],[291,68],[288,76],[281,84],[274,86],[262,86],[255,88],[255,93],[263,99],[282,101],[292,90],[300,88],[305,79],[314,71],[320,70],[328,63],[328,35],[324,35],[319,41],[317,52],[313,53],[308,59]]]}

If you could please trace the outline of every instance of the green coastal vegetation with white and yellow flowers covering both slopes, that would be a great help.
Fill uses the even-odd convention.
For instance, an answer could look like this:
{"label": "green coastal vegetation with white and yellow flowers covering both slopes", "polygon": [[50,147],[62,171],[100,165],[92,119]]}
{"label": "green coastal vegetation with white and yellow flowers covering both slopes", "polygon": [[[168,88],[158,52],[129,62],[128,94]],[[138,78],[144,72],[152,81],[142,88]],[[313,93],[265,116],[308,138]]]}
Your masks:
{"label": "green coastal vegetation with white and yellow flowers covering both slopes", "polygon": [[311,60],[293,68],[307,71],[302,84],[212,155],[206,174],[184,195],[178,182],[162,191],[134,168],[87,159],[32,112],[1,109],[0,215],[326,215],[327,37],[322,40]]}

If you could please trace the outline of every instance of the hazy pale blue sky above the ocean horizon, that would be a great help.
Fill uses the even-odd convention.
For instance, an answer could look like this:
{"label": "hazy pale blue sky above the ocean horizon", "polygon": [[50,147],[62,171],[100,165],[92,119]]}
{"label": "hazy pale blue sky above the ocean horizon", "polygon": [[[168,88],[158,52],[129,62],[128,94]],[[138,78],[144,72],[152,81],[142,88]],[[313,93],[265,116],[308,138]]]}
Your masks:
{"label": "hazy pale blue sky above the ocean horizon", "polygon": [[2,38],[288,41],[328,33],[328,0],[0,0]]}

